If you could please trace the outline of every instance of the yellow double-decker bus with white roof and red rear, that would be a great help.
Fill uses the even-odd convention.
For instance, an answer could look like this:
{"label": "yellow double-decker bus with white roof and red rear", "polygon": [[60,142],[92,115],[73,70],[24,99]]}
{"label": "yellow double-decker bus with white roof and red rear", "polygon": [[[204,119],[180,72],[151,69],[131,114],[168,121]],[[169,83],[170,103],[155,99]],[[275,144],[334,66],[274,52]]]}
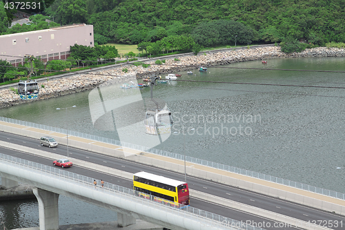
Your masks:
{"label": "yellow double-decker bus with white roof and red rear", "polygon": [[179,204],[189,205],[189,189],[186,182],[139,172],[133,176],[133,189],[141,198],[172,207],[180,207]]}

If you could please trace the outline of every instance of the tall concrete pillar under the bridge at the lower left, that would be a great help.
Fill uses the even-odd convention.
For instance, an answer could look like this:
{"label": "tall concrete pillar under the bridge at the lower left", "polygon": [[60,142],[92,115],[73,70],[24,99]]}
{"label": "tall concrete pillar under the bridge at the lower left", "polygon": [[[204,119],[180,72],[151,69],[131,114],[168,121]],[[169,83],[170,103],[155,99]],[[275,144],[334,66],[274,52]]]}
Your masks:
{"label": "tall concrete pillar under the bridge at the lower left", "polygon": [[39,188],[32,191],[39,202],[39,230],[59,229],[59,194]]}

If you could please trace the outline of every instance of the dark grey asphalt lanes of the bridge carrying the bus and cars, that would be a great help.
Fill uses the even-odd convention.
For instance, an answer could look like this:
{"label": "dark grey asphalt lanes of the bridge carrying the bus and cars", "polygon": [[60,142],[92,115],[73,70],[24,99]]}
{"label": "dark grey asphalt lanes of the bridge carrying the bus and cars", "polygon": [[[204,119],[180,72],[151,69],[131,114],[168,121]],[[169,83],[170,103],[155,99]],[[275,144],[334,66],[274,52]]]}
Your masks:
{"label": "dark grey asphalt lanes of the bridge carrying the bus and cars", "polygon": [[[43,147],[39,144],[39,140],[34,140],[30,137],[22,137],[19,135],[12,135],[10,133],[0,133],[0,140],[5,142],[11,142],[14,144],[19,144],[22,146],[28,146],[30,148],[37,148],[43,151],[48,151],[51,153],[56,153],[59,155],[65,155],[67,153],[66,146],[59,145],[57,148],[48,148]],[[181,175],[179,173],[174,173],[170,171],[166,171],[164,169],[157,169],[152,166],[146,166],[144,164],[138,164],[136,162],[129,162],[126,160],[120,160],[115,157],[109,157],[106,155],[100,155],[97,153],[92,153],[90,151],[83,151],[77,148],[71,148],[69,147],[70,151],[70,157],[84,160],[87,162],[92,162],[99,164],[100,166],[107,166],[114,169],[119,169],[121,171],[126,171],[128,173],[137,173],[138,171],[147,171],[149,173],[155,173],[157,175],[163,175],[168,178],[174,178],[176,180],[184,181],[184,175]],[[15,157],[20,157],[26,160],[31,160],[33,162],[39,162],[41,164],[47,164],[52,165],[52,160],[43,159],[41,157],[35,157],[33,155],[28,155],[26,153],[19,153],[17,151],[8,150],[6,148],[0,148],[1,153],[5,153],[8,155],[13,155]],[[114,182],[115,184],[119,184],[118,182],[124,183],[124,185],[119,184],[121,186],[126,187],[132,187],[131,182],[126,181],[124,179],[115,178],[114,175],[104,175],[103,173],[99,172],[92,172],[88,171],[86,169],[79,169],[77,166],[72,167],[71,169],[68,169],[70,171],[79,173],[81,175],[88,175],[92,178],[102,179],[106,180],[108,182]],[[75,171],[78,170],[78,171]],[[116,181],[118,180],[118,181]],[[284,200],[279,200],[277,198],[271,198],[266,195],[253,193],[250,191],[244,191],[243,189],[238,189],[232,186],[224,185],[224,184],[218,184],[215,182],[210,182],[206,180],[202,180],[199,178],[193,178],[193,177],[187,177],[187,182],[190,186],[190,189],[194,189],[196,191],[201,191],[203,193],[210,193],[212,195],[216,195],[221,198],[225,198],[228,200],[234,200],[236,202],[241,202],[243,204],[248,204],[253,207],[258,207],[260,209],[266,209],[268,211],[273,211],[276,213],[280,213],[282,215],[287,215],[292,218],[296,218],[298,220],[304,220],[306,222],[308,221],[327,221],[328,223],[339,223],[339,224],[327,224],[327,227],[331,229],[343,229],[345,224],[345,217],[342,215],[337,215],[335,213],[329,213],[326,211],[321,211],[319,209],[313,209],[311,207],[306,207],[301,204],[295,204],[292,202],[287,202]],[[197,207],[199,209],[206,209],[208,207],[213,207],[215,204],[207,204],[205,205],[205,201],[199,202],[195,199],[191,201],[191,204],[193,204],[193,207]],[[198,206],[195,206],[195,204],[199,204]],[[217,206],[217,205],[216,205]],[[219,206],[217,206],[219,207]],[[223,209],[222,209],[223,210]],[[217,211],[215,207],[213,207],[211,211],[214,213],[218,213],[219,215],[228,216],[229,218],[233,218],[235,220],[250,220],[248,219],[248,216],[244,218],[243,216],[239,216],[239,218],[235,218],[233,213],[231,215],[228,215],[228,209],[225,209],[225,211]],[[237,211],[236,211],[237,213]],[[261,221],[264,221],[261,219]]]}

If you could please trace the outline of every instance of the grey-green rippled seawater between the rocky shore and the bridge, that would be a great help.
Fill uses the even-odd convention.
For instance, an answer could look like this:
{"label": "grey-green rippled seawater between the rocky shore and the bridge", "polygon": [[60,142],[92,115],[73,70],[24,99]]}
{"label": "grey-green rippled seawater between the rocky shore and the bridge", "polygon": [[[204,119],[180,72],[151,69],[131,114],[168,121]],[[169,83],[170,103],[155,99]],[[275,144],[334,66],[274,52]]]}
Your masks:
{"label": "grey-green rippled seawater between the rocky shore and the bridge", "polygon": [[[345,71],[344,61],[337,57],[269,59],[267,65],[248,61],[208,68],[207,73],[182,72],[181,79],[210,82],[155,86],[153,96],[168,104],[175,132],[155,148],[345,193],[345,91],[332,88],[345,86],[344,73],[231,68]],[[86,91],[3,108],[0,116],[59,128],[68,126],[70,130],[118,140],[116,128],[104,131],[93,125],[89,94]],[[149,99],[150,89],[141,89],[141,96]],[[56,110],[73,105],[77,107],[67,112]],[[143,109],[137,112],[131,115],[134,120],[145,118]],[[126,111],[121,113],[128,116]],[[28,206],[33,205],[36,203],[23,202],[18,207],[23,213],[31,213]],[[19,216],[26,220],[20,227],[38,223],[38,210],[37,215]],[[89,220],[80,215],[74,223]]]}

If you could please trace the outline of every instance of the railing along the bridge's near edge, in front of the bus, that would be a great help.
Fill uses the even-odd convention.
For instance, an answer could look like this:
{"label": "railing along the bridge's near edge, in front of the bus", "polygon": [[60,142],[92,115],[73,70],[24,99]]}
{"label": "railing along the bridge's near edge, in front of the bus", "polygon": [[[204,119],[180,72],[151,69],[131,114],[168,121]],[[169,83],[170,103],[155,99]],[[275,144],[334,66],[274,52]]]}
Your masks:
{"label": "railing along the bridge's near edge, in front of the bus", "polygon": [[[103,186],[100,186],[101,181],[97,180],[95,178],[90,178],[88,176],[85,175],[79,175],[77,173],[72,173],[66,170],[62,170],[62,169],[57,169],[55,167],[52,166],[48,166],[45,164],[40,164],[37,162],[31,162],[29,160],[23,160],[19,157],[12,157],[11,155],[6,155],[3,153],[0,153],[0,160],[3,162],[7,162],[10,163],[12,165],[16,165],[19,167],[26,167],[27,169],[30,169],[32,171],[40,171],[41,173],[48,173],[50,175],[54,175],[60,178],[60,180],[62,179],[64,182],[66,182],[67,180],[72,180],[73,183],[77,182],[79,185],[81,186],[87,186],[87,187],[92,187],[95,186],[95,184],[93,184],[94,180],[96,180],[97,182],[97,187],[95,186],[95,188],[97,188],[99,191],[103,191],[104,193],[116,193],[119,195],[128,195],[128,198],[133,200],[136,199],[136,202],[141,202],[142,204],[148,204],[148,205],[153,205],[154,207],[168,207],[172,210],[178,211],[179,215],[184,215],[186,213],[190,213],[193,214],[197,220],[199,219],[203,219],[201,221],[205,222],[205,224],[211,224],[211,227],[221,227],[221,229],[246,229],[246,230],[264,230],[260,227],[253,227],[249,224],[246,224],[245,222],[242,221],[238,221],[238,220],[233,220],[231,218],[226,218],[222,215],[218,215],[215,213],[210,213],[208,211],[204,211],[201,209],[197,209],[194,207],[190,207],[190,206],[186,206],[184,204],[179,204],[179,207],[172,207],[169,206],[169,202],[168,200],[164,200],[164,203],[161,202],[155,202],[154,198],[156,198],[153,195],[149,195],[149,199],[147,198],[140,198],[139,197],[139,192],[138,191],[134,191],[133,189],[128,189],[124,186],[119,186],[117,184],[111,184],[109,182],[104,182]],[[1,171],[1,170],[0,170]],[[142,193],[142,192],[140,192]],[[181,213],[181,214],[180,214]],[[206,220],[210,220],[206,221]],[[200,222],[201,222],[200,221]]]}

